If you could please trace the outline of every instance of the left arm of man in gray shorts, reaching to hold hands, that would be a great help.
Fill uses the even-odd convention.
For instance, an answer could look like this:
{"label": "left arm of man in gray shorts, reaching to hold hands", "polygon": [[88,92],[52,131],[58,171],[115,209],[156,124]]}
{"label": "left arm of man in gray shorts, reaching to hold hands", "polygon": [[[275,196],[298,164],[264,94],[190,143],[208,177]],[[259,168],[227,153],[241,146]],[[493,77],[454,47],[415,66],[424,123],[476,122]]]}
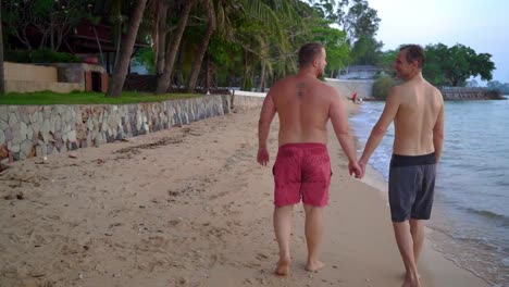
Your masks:
{"label": "left arm of man in gray shorts, reaching to hold hands", "polygon": [[368,164],[371,154],[378,146],[382,138],[385,136],[385,132],[390,123],[394,121],[399,109],[399,101],[397,99],[397,88],[392,88],[389,95],[387,96],[387,100],[385,101],[385,108],[382,112],[382,115],[378,118],[378,122],[374,125],[373,129],[371,130],[370,138],[364,147],[364,152],[359,160],[359,163],[362,165],[362,169]]}

